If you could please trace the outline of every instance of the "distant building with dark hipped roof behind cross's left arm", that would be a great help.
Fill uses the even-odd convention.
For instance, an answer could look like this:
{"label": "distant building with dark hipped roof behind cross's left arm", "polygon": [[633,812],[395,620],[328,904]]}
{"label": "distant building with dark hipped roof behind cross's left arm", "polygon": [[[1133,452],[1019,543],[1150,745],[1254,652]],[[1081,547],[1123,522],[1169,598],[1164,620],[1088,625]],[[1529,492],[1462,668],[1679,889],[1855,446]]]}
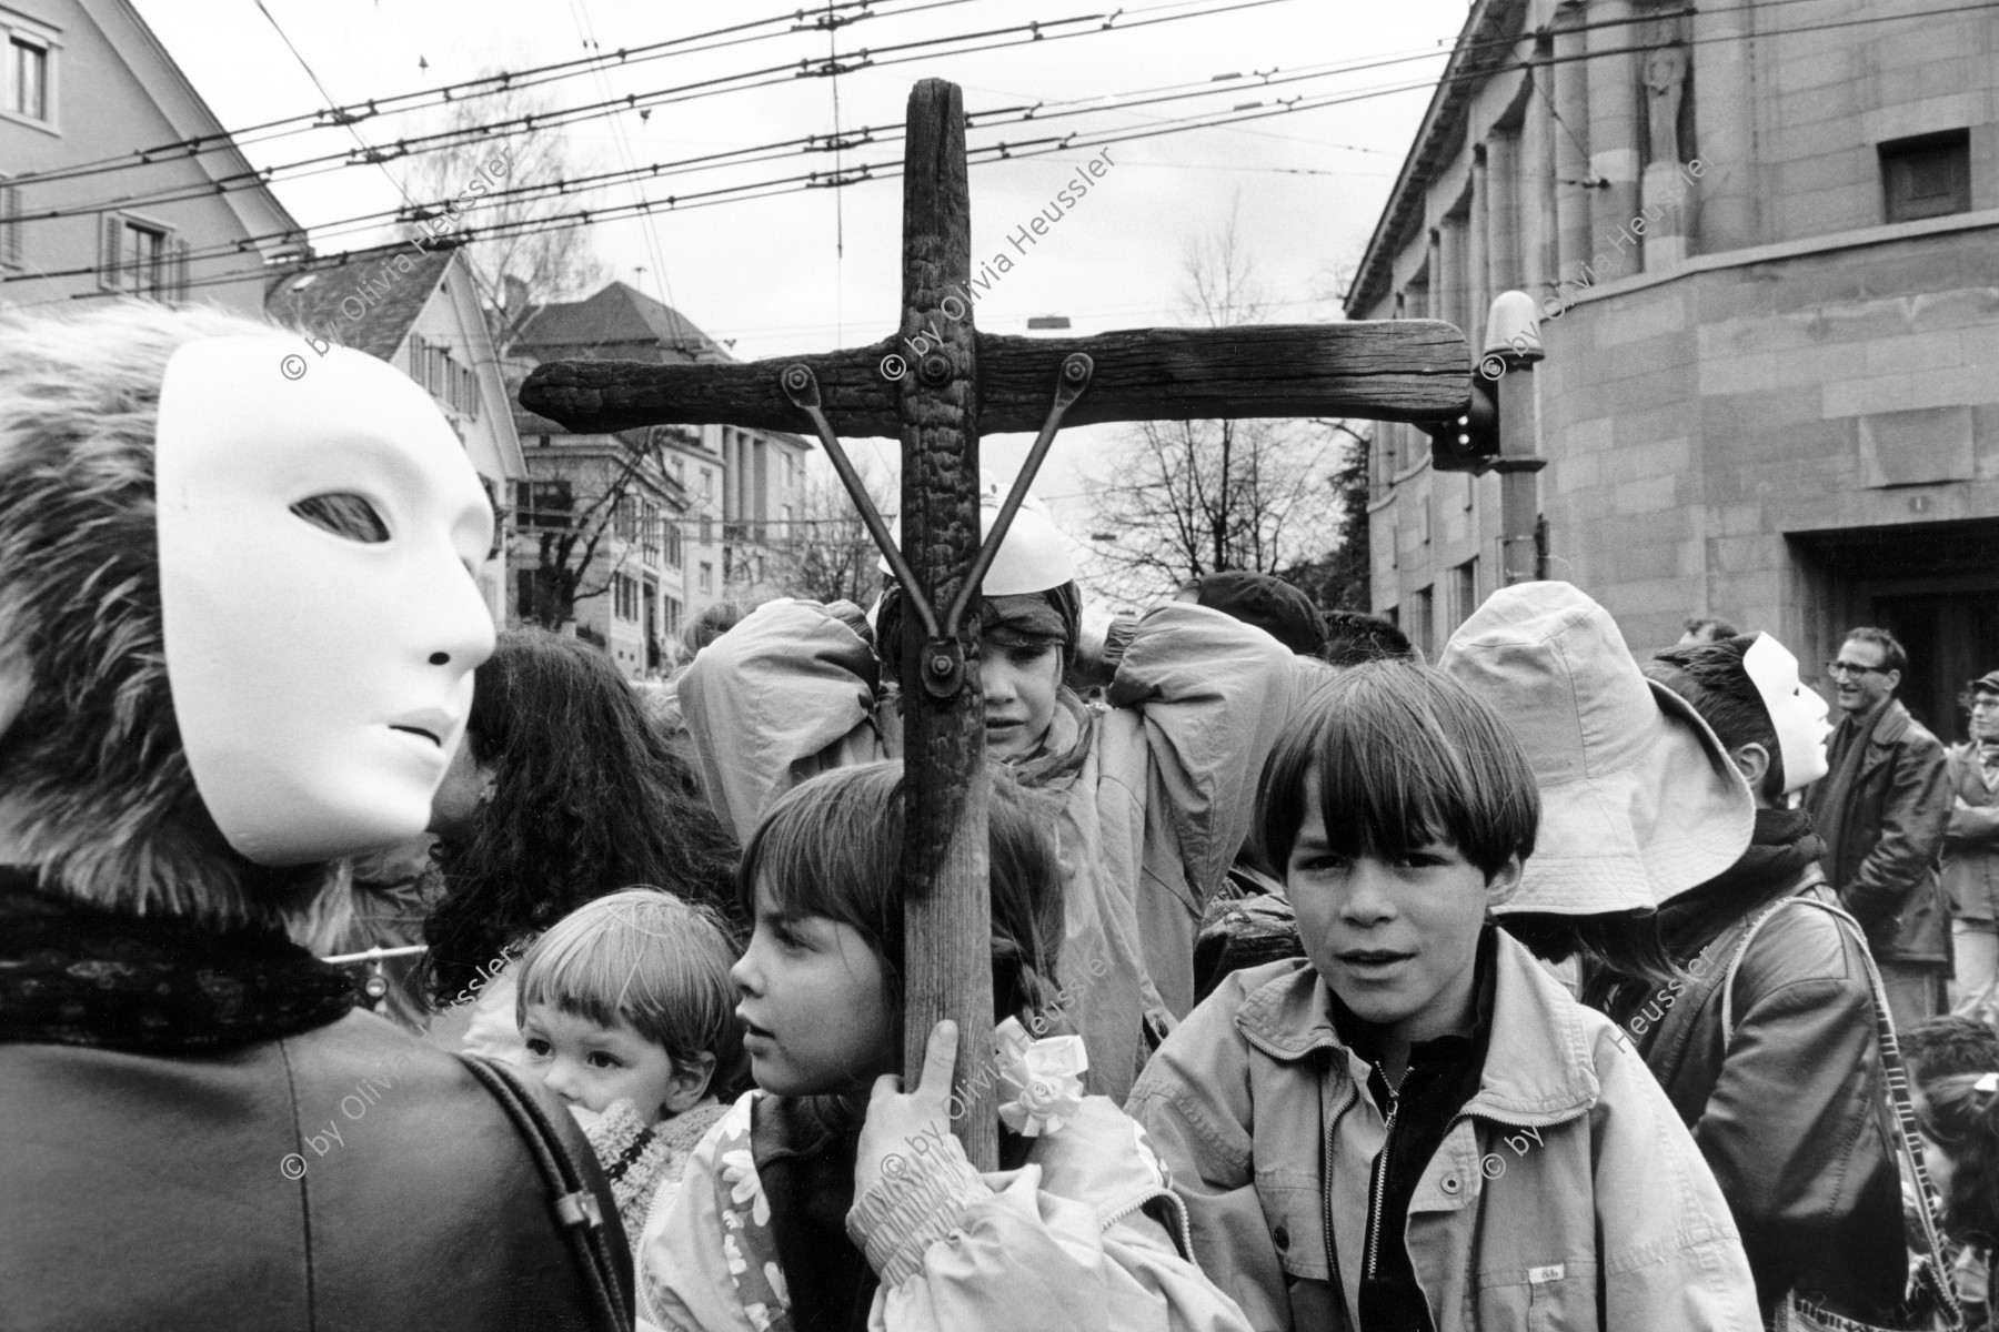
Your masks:
{"label": "distant building with dark hipped roof behind cross's left arm", "polygon": [[[516,389],[526,373],[554,359],[618,361],[730,361],[726,347],[670,306],[624,282],[580,302],[548,304],[528,312],[508,349]],[[604,435],[572,435],[516,407],[528,467],[550,479],[578,459],[580,449],[610,445]],[[660,503],[658,521],[674,525],[654,545],[666,565],[656,569],[662,603],[654,613],[666,637],[724,597],[758,599],[778,591],[778,545],[804,517],[806,457],[812,445],[776,429],[736,425],[656,425],[640,433],[638,447],[656,453],[660,477],[684,509]],[[630,443],[630,441],[626,441]],[[622,445],[620,445],[622,447]],[[640,521],[652,521],[640,515]],[[646,601],[644,605],[650,605]],[[582,609],[578,625],[584,625]],[[616,617],[606,631],[616,631]],[[616,651],[614,651],[616,655]],[[630,663],[620,659],[620,665]]]}

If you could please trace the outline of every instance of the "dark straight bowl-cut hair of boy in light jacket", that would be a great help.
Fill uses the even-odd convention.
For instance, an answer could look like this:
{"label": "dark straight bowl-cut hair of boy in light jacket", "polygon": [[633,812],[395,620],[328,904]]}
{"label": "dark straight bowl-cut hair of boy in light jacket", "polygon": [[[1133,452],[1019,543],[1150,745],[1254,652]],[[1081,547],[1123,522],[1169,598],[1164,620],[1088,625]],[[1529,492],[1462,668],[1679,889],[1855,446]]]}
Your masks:
{"label": "dark straight bowl-cut hair of boy in light jacket", "polygon": [[1257,839],[1283,875],[1317,781],[1331,851],[1457,847],[1491,879],[1533,853],[1541,793],[1493,709],[1435,667],[1367,661],[1305,697],[1263,769]]}

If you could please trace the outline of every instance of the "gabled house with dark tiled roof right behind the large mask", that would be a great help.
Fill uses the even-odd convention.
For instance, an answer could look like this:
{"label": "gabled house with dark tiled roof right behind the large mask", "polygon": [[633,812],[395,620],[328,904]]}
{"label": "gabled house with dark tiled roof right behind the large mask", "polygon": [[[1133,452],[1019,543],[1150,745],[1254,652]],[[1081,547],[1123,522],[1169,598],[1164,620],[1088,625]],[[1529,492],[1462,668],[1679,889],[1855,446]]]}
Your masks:
{"label": "gabled house with dark tiled roof right behind the large mask", "polygon": [[510,623],[512,503],[528,467],[472,268],[458,248],[440,238],[312,260],[270,278],[264,310],[278,324],[384,359],[430,389],[494,501],[494,545],[476,579],[494,623]]}

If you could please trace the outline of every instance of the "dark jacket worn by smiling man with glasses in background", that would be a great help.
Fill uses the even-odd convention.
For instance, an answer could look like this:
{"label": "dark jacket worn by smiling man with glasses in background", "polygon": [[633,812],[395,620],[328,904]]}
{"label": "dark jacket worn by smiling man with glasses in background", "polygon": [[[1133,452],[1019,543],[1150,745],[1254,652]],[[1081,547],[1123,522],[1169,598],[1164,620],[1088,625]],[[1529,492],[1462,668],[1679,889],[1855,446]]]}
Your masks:
{"label": "dark jacket worn by smiling man with glasses in background", "polygon": [[[1867,755],[1841,793],[1851,745],[1867,745]],[[1827,757],[1831,773],[1805,797],[1825,837],[1825,877],[1867,931],[1875,961],[1947,967],[1951,925],[1937,881],[1951,817],[1943,745],[1889,699],[1871,721],[1841,721]]]}

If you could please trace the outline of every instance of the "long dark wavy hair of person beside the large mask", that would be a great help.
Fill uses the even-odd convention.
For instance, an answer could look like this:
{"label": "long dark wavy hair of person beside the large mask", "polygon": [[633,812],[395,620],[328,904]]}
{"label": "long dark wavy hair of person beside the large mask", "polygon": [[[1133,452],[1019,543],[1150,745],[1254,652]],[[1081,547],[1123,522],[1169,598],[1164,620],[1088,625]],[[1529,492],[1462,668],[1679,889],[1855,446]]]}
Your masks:
{"label": "long dark wavy hair of person beside the large mask", "polygon": [[736,843],[610,659],[546,629],[508,629],[466,723],[494,765],[472,833],[438,851],[424,923],[432,997],[464,989],[522,935],[650,883],[736,917]]}

